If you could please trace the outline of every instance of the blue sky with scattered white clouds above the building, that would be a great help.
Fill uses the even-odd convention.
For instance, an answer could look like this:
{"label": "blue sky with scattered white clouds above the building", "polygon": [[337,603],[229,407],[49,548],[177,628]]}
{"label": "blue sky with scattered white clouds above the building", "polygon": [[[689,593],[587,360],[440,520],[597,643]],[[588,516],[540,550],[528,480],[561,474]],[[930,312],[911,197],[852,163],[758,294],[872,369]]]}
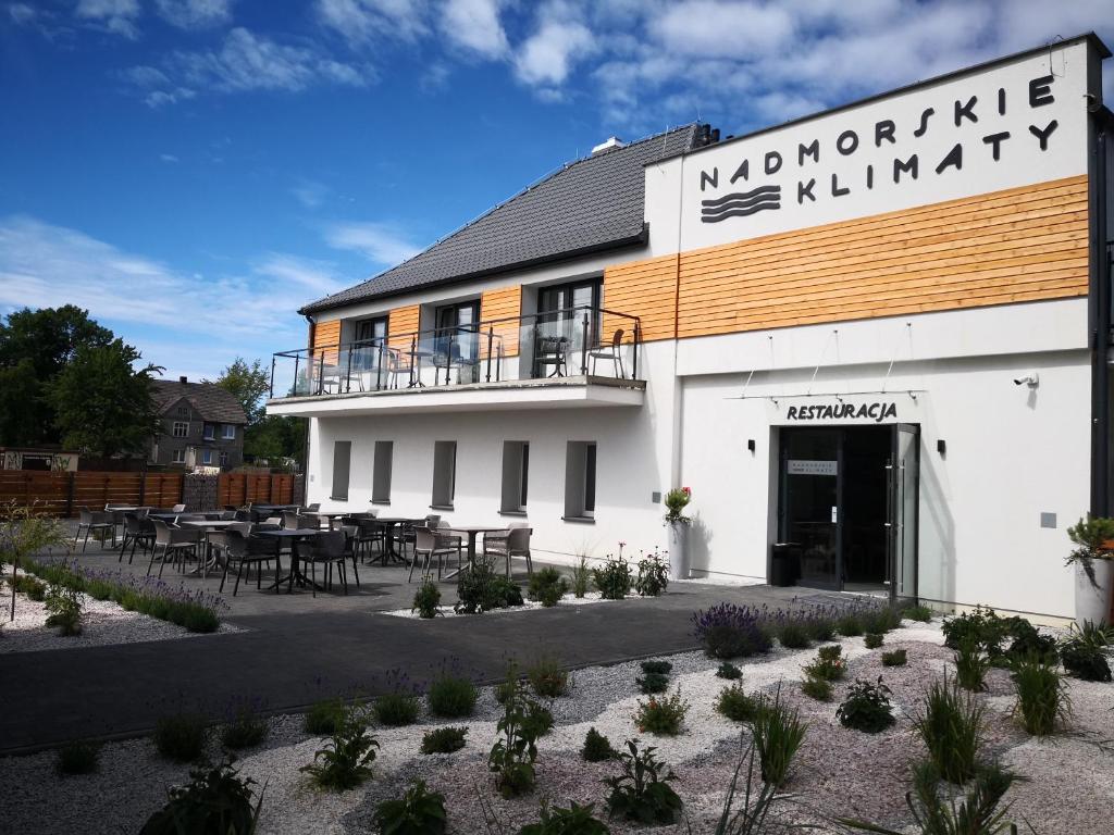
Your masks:
{"label": "blue sky with scattered white clouds above the building", "polygon": [[610,135],[1092,29],[1112,0],[0,0],[0,313],[79,304],[215,376]]}

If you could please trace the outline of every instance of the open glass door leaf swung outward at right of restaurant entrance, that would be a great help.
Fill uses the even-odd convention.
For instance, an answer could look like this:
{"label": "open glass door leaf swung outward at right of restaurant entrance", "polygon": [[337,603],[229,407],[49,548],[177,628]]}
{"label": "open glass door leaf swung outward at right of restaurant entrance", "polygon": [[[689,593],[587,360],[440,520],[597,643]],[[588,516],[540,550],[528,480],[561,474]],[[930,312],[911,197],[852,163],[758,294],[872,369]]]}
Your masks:
{"label": "open glass door leaf swung outward at right of restaurant entrance", "polygon": [[892,449],[886,469],[890,599],[916,600],[919,426],[909,423],[895,424]]}

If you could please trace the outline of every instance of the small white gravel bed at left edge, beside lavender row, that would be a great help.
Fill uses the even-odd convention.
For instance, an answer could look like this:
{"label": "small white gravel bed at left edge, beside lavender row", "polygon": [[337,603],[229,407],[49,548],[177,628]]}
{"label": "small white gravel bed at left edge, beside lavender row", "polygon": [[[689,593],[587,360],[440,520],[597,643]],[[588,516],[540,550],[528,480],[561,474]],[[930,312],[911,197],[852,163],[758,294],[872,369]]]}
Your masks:
{"label": "small white gravel bed at left edge, beside lavender row", "polygon": [[[47,627],[47,607],[19,592],[16,595],[16,619],[8,620],[11,609],[11,591],[6,584],[0,595],[0,655],[4,652],[35,652],[42,649],[81,649],[104,647],[113,644],[138,644],[141,641],[165,641],[174,638],[198,638],[199,632],[190,632],[185,627],[158,620],[149,615],[127,611],[110,600],[95,600],[88,595],[81,598],[81,633],[69,637],[58,635],[58,630]],[[222,623],[221,632],[238,632],[231,623]]]}

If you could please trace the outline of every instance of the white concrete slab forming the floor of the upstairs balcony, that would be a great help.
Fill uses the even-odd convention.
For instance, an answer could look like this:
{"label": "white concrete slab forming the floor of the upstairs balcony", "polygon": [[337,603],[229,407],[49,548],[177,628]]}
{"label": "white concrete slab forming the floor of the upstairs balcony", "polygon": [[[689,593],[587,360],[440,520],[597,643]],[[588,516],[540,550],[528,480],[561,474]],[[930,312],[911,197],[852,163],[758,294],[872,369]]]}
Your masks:
{"label": "white concrete slab forming the floor of the upstairs balcony", "polygon": [[641,406],[645,396],[646,383],[643,380],[588,375],[276,397],[267,401],[267,414],[322,418],[332,414]]}

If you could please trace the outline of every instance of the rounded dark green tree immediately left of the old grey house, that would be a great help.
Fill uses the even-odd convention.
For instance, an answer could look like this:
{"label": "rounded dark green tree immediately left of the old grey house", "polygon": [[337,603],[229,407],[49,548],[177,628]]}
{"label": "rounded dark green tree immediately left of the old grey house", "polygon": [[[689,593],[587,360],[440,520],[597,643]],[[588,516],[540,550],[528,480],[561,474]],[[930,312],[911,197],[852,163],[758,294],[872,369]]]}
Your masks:
{"label": "rounded dark green tree immediately left of the old grey house", "polygon": [[115,340],[104,346],[81,346],[49,385],[49,400],[62,444],[108,458],[138,453],[158,434],[158,411],[152,396],[152,375],[163,369]]}

